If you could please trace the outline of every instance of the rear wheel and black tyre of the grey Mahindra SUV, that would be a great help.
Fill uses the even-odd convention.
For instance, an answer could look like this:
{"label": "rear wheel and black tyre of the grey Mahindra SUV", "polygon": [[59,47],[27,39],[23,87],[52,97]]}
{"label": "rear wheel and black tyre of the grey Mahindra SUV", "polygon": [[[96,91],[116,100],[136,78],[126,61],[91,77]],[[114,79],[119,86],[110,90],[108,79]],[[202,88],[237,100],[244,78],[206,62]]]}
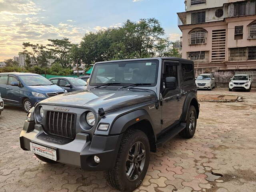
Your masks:
{"label": "rear wheel and black tyre of the grey Mahindra SUV", "polygon": [[196,131],[196,121],[196,108],[194,106],[190,106],[188,109],[188,115],[186,119],[186,128],[182,130],[182,132],[180,132],[180,136],[186,139],[192,138]]}

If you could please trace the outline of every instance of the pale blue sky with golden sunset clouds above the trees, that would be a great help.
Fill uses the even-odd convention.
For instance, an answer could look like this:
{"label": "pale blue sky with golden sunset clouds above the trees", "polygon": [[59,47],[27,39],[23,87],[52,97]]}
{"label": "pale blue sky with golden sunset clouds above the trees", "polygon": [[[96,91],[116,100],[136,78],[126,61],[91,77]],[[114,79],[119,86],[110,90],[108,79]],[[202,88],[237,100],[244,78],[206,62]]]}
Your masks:
{"label": "pale blue sky with golden sunset clouds above the trees", "polygon": [[176,12],[184,0],[0,0],[0,61],[22,51],[22,42],[48,44],[90,31],[118,27],[127,19],[158,19],[170,40],[178,40]]}

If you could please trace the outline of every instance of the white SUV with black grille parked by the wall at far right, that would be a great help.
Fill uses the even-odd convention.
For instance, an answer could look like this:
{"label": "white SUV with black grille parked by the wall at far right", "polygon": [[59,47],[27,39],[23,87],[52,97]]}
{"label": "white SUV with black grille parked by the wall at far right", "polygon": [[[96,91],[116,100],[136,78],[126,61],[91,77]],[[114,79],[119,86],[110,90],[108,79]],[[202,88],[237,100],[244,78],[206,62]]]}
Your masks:
{"label": "white SUV with black grille parked by the wall at far right", "polygon": [[240,74],[234,75],[229,82],[229,91],[232,90],[246,90],[250,91],[252,89],[252,79],[249,75]]}

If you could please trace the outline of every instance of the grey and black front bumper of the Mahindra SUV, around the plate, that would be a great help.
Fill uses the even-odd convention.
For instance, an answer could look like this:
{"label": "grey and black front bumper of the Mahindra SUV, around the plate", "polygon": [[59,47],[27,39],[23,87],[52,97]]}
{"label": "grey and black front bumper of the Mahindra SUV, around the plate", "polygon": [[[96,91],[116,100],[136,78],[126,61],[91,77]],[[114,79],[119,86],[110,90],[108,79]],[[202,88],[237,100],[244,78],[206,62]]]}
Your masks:
{"label": "grey and black front bumper of the Mahindra SUV, around the plate", "polygon": [[[33,129],[34,128],[34,129]],[[68,140],[44,133],[41,125],[26,121],[20,133],[20,147],[30,150],[30,142],[57,149],[57,162],[69,164],[88,171],[110,170],[114,167],[122,134],[115,136],[78,133],[74,140]],[[94,156],[100,163],[94,162]]]}

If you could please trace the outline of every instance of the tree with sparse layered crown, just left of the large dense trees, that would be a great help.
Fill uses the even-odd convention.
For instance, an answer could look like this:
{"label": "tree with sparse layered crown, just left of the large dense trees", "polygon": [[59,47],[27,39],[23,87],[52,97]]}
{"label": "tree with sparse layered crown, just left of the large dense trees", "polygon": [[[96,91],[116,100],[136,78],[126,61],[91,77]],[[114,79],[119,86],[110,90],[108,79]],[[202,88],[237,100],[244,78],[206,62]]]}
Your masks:
{"label": "tree with sparse layered crown, just left of the large dense trees", "polygon": [[56,62],[59,62],[63,67],[71,67],[70,50],[72,44],[69,39],[48,39],[48,41],[52,43],[47,45],[51,47],[48,50]]}

